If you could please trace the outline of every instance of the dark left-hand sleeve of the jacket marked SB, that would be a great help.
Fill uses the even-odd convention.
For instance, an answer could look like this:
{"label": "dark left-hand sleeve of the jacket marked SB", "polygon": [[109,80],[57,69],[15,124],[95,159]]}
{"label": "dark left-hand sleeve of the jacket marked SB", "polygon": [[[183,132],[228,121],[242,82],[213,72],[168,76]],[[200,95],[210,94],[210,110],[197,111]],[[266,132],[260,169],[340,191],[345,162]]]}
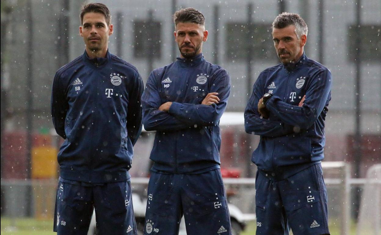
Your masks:
{"label": "dark left-hand sleeve of the jacket marked SB", "polygon": [[67,102],[65,91],[66,87],[62,85],[61,77],[58,72],[56,72],[51,92],[51,118],[57,134],[64,139],[66,139],[66,113],[67,110],[69,110],[69,103]]}

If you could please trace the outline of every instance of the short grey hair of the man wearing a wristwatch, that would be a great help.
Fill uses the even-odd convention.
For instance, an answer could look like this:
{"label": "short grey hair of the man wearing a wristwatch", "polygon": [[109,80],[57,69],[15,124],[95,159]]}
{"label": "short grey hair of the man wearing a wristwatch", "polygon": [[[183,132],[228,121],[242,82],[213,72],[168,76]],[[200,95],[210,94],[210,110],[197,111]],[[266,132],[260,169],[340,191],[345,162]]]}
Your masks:
{"label": "short grey hair of the man wearing a wristwatch", "polygon": [[272,22],[272,29],[283,29],[289,25],[293,25],[296,28],[296,36],[298,38],[301,35],[308,33],[308,27],[306,22],[299,16],[299,14],[283,12],[280,13]]}

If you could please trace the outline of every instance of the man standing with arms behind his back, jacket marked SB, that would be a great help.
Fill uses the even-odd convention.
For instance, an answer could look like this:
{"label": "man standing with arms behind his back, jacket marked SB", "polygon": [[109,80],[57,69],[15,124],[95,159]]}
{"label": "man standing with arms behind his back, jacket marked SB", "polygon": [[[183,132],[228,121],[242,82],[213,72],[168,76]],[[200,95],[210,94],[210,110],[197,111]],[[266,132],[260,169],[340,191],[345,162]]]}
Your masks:
{"label": "man standing with arms behind his back, jacket marked SB", "polygon": [[80,19],[85,52],[53,81],[53,124],[65,139],[53,230],[87,234],[95,208],[98,234],[137,234],[128,170],[142,128],[142,79],[108,51],[113,26],[106,5],[83,6]]}

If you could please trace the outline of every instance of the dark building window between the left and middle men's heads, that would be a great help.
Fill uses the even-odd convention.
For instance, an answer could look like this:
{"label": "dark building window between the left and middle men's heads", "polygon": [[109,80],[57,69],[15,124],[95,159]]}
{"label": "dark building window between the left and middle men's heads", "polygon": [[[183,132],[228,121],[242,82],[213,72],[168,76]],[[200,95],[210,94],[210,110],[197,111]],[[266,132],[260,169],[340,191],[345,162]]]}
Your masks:
{"label": "dark building window between the left and middle men's heads", "polygon": [[161,23],[158,21],[134,21],[134,56],[136,58],[160,58]]}

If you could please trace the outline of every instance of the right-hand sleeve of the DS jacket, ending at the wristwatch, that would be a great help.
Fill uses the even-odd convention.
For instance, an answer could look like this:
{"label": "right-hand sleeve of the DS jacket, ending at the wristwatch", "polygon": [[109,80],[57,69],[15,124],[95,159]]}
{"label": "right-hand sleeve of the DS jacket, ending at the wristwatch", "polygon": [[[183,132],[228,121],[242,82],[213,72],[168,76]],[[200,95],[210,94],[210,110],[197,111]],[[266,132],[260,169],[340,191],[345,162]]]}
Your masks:
{"label": "right-hand sleeve of the DS jacket, ending at the wristwatch", "polygon": [[310,81],[302,107],[288,104],[278,96],[273,96],[266,102],[267,110],[288,125],[301,129],[311,127],[331,99],[331,72],[328,69],[319,70],[311,76]]}

